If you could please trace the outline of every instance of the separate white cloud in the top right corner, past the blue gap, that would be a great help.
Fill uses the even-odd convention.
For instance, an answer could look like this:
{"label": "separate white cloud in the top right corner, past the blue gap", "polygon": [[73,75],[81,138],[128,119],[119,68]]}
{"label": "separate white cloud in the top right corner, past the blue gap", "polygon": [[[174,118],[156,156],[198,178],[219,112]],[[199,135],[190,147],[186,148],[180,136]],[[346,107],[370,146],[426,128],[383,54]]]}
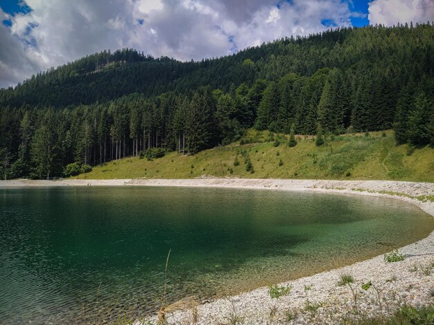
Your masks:
{"label": "separate white cloud in the top right corner, past the blue gap", "polygon": [[426,23],[434,19],[433,0],[374,0],[369,3],[370,24]]}

